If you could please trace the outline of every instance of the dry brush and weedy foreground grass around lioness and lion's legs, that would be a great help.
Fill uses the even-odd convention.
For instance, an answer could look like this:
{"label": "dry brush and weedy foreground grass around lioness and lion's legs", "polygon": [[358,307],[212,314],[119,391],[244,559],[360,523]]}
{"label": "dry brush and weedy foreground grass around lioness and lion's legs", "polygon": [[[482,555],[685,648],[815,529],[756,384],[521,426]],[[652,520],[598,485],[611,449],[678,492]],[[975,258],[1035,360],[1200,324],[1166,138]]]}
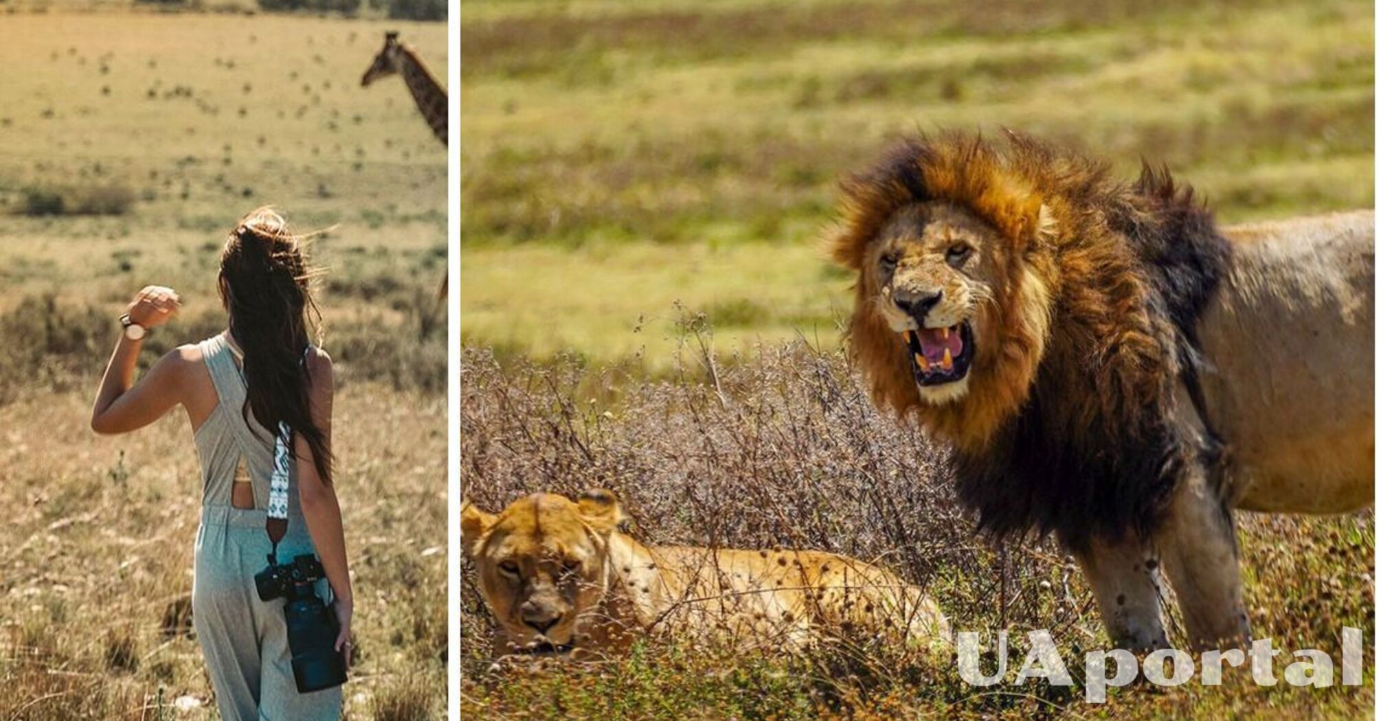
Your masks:
{"label": "dry brush and weedy foreground grass around lioness and lion's legs", "polygon": [[[1025,631],[1051,631],[1073,688],[992,692],[953,659],[842,638],[800,656],[656,638],[592,663],[492,664],[493,622],[461,569],[461,706],[492,718],[1026,718],[1083,714],[1083,653],[1106,646],[1092,597],[1052,541],[994,546],[957,508],[945,450],[873,407],[838,351],[805,343],[718,359],[692,323],[674,372],[587,367],[576,358],[500,362],[461,355],[461,496],[499,510],[532,492],[619,493],[652,544],[801,547],[878,561],[921,584],[956,630],[1010,633],[1008,681]],[[1258,637],[1337,655],[1342,626],[1371,628],[1370,512],[1329,518],[1240,514],[1248,611]],[[1297,552],[1298,550],[1305,552]],[[1171,638],[1184,645],[1171,615]],[[985,652],[985,673],[994,655]],[[1011,691],[1011,692],[1008,692]],[[1264,698],[1269,695],[1269,700]],[[1371,689],[1326,695],[1250,678],[1172,693],[1141,685],[1103,707],[1114,718],[1229,709],[1348,715]]]}

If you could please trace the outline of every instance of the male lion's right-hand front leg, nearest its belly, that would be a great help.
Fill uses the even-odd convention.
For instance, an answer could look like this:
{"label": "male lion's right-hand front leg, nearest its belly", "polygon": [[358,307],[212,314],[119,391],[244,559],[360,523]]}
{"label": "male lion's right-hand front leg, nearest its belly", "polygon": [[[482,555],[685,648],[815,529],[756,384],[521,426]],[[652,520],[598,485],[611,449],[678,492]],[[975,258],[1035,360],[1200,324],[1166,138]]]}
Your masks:
{"label": "male lion's right-hand front leg, nearest its belly", "polygon": [[1195,649],[1233,648],[1251,637],[1230,511],[1201,475],[1185,478],[1156,532],[1166,575]]}

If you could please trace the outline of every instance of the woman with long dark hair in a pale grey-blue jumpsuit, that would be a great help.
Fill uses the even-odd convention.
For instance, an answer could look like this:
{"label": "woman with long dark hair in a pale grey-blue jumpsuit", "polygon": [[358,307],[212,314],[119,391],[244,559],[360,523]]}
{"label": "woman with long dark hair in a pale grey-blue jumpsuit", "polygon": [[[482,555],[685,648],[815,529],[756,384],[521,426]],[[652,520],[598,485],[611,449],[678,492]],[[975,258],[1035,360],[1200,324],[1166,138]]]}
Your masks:
{"label": "woman with long dark hair in a pale grey-blue jumpsuit", "polygon": [[[302,242],[271,209],[242,218],[221,251],[228,329],[170,351],[134,383],[144,337],[181,305],[171,289],[141,290],[120,318],[124,327],[91,412],[95,432],[123,434],[173,406],[186,409],[203,482],[192,622],[226,720],[340,718],[338,685],[298,692],[283,601],[255,593],[254,575],[271,554],[319,557],[318,593],[329,584],[340,623],[334,649],[349,663],[354,595],[331,486],[331,359],[308,336],[308,316],[319,314]],[[271,479],[284,478],[286,532],[271,521],[283,515],[271,511]],[[282,537],[275,543],[271,533]]]}

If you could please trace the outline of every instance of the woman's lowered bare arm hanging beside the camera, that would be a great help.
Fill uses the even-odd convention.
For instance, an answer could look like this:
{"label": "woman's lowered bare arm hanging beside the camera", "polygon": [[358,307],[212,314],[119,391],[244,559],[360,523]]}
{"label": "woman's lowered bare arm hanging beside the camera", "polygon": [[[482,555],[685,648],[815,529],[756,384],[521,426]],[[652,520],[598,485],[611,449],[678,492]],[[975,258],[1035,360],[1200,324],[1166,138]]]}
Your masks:
{"label": "woman's lowered bare arm hanging beside the camera", "polygon": [[[334,396],[334,376],[331,359],[325,351],[315,351],[307,360],[307,367],[312,378],[312,388],[308,392],[312,401],[312,419],[326,438],[326,445],[331,442],[331,402]],[[355,611],[355,593],[349,581],[349,561],[345,554],[345,529],[341,523],[340,500],[336,489],[329,486],[316,472],[312,448],[307,439],[297,435],[293,441],[293,452],[297,456],[298,499],[302,504],[302,517],[307,519],[307,530],[316,546],[316,555],[322,559],[326,570],[326,580],[331,584],[336,595],[336,616],[341,623],[341,631],[336,638],[336,649],[345,646],[347,663],[349,660],[349,626]]]}

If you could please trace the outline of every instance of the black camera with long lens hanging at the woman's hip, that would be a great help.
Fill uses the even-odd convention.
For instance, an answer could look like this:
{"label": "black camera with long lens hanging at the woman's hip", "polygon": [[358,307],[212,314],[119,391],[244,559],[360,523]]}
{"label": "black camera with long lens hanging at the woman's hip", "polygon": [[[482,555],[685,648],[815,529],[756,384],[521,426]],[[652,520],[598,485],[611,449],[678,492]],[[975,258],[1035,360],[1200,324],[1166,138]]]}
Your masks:
{"label": "black camera with long lens hanging at the woman's hip", "polygon": [[345,656],[334,648],[340,623],[312,588],[325,576],[322,562],[311,554],[282,565],[269,557],[268,568],[254,575],[260,601],[284,599],[287,648],[293,652],[293,680],[298,693],[345,682]]}

